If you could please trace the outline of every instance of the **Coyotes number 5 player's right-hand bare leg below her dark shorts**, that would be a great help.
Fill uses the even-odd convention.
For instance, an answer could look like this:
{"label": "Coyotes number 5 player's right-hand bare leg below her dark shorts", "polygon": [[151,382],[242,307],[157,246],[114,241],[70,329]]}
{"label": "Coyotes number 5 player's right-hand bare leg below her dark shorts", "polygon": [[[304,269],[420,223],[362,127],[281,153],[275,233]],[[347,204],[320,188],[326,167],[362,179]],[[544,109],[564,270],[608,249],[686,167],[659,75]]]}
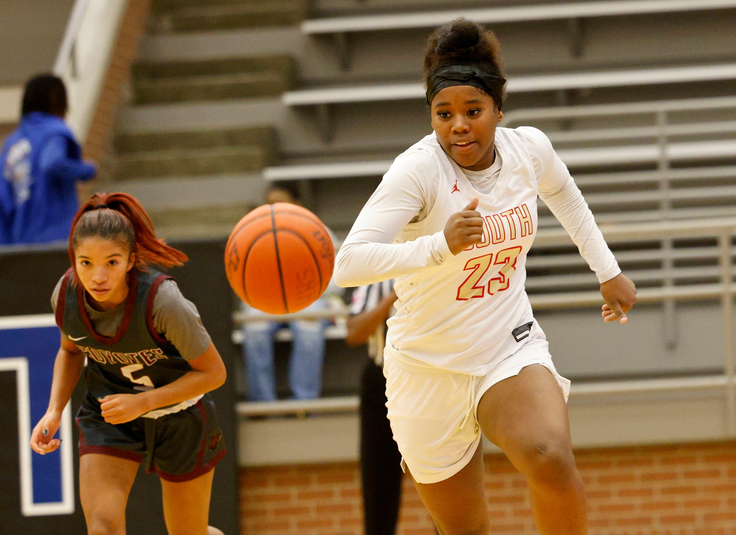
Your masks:
{"label": "Coyotes number 5 player's right-hand bare leg below her dark shorts", "polygon": [[169,535],[208,535],[214,470],[189,481],[161,478],[163,519]]}

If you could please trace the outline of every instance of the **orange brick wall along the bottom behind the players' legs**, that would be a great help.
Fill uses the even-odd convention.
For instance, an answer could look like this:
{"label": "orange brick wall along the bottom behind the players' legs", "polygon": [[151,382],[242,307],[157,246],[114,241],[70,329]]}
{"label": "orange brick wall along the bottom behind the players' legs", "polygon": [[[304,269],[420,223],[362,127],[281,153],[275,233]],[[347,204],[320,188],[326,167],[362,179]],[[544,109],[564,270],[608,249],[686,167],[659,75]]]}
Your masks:
{"label": "orange brick wall along the bottom behind the players' legs", "polygon": [[[736,442],[581,450],[591,535],[736,535]],[[492,533],[536,534],[526,483],[486,456]],[[242,535],[362,533],[355,463],[241,470]],[[400,535],[434,530],[405,478]]]}

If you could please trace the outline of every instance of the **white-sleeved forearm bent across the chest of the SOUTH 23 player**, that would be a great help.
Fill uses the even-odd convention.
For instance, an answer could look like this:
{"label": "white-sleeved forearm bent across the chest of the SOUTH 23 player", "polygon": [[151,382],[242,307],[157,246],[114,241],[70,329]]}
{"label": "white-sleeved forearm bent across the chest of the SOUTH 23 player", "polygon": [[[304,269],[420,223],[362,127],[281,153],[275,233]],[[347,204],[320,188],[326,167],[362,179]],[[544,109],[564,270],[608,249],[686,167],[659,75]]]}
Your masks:
{"label": "white-sleeved forearm bent across the chest of the SOUTH 23 player", "polygon": [[403,244],[346,241],[335,259],[337,286],[364,286],[439,266],[452,253],[442,232]]}

